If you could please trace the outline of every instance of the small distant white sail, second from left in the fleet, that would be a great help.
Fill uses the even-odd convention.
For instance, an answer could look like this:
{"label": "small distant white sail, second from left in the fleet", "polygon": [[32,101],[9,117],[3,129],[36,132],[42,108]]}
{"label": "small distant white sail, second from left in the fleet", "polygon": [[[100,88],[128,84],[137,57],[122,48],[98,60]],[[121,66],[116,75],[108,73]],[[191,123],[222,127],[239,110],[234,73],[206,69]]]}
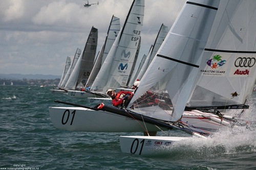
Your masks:
{"label": "small distant white sail, second from left in the fleet", "polygon": [[[69,67],[69,69],[68,69],[68,71],[67,71],[67,74],[66,74],[65,78],[63,79],[63,81],[61,82],[61,85],[59,86],[59,88],[65,88],[65,86],[66,86],[66,84],[67,84],[67,82],[68,82],[69,79],[70,79],[70,81],[69,81],[70,84],[71,84],[72,82],[73,82],[73,84],[76,83],[76,80],[70,78],[70,75],[71,75],[72,71],[73,71],[74,68],[75,68],[75,65],[76,65],[76,63],[77,63],[77,60],[78,60],[80,54],[81,54],[81,50],[80,50],[79,48],[77,48],[77,49],[76,49],[75,56],[74,56],[73,61],[72,61],[72,63],[71,63],[71,66]],[[70,87],[70,86],[72,87],[72,85],[67,85],[67,87]]]}

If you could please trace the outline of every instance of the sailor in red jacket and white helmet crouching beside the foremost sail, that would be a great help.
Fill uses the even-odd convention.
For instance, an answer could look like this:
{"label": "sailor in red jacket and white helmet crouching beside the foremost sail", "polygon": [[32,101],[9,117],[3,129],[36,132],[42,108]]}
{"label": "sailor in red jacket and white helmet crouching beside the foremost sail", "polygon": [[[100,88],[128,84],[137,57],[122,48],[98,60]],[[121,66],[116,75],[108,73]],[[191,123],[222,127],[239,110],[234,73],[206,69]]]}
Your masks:
{"label": "sailor in red jacket and white helmet crouching beside the foremost sail", "polygon": [[119,91],[115,93],[115,90],[113,89],[108,89],[106,93],[111,97],[112,99],[112,105],[115,107],[120,107],[122,106],[123,102],[125,100],[129,100],[133,96],[133,92],[131,91]]}

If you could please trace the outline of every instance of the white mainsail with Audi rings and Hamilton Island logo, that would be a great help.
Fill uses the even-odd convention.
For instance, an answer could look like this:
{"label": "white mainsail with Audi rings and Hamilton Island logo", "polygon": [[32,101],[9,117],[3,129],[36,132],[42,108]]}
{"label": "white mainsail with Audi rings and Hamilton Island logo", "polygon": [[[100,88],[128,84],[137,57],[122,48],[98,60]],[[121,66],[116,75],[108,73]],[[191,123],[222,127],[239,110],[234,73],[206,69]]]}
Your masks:
{"label": "white mainsail with Audi rings and Hamilton Island logo", "polygon": [[[256,3],[224,1],[206,45],[190,107],[240,105],[256,79]],[[229,8],[221,9],[222,6]],[[228,88],[226,88],[228,87]]]}

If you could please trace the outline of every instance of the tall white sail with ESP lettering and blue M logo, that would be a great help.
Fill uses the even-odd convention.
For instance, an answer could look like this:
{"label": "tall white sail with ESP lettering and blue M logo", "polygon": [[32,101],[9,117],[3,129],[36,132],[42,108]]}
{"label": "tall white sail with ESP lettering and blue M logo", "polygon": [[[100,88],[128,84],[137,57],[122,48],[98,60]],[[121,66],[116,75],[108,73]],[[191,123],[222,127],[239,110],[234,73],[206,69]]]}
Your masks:
{"label": "tall white sail with ESP lettering and blue M logo", "polygon": [[134,0],[124,26],[92,85],[92,91],[105,93],[108,88],[126,86],[139,45],[143,17],[144,0]]}

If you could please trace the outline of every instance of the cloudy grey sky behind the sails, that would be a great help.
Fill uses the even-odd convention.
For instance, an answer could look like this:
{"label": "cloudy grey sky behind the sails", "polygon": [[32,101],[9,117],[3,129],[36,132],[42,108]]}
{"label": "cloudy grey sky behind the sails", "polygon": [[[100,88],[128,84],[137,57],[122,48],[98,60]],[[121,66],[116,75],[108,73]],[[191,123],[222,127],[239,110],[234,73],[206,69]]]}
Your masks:
{"label": "cloudy grey sky behind the sails", "polygon": [[[84,48],[92,26],[98,29],[98,52],[112,15],[122,27],[133,0],[89,1],[97,2],[84,8],[84,0],[0,0],[0,74],[60,76],[67,56],[73,59],[76,48]],[[184,2],[145,0],[139,58],[162,23],[172,27]]]}

